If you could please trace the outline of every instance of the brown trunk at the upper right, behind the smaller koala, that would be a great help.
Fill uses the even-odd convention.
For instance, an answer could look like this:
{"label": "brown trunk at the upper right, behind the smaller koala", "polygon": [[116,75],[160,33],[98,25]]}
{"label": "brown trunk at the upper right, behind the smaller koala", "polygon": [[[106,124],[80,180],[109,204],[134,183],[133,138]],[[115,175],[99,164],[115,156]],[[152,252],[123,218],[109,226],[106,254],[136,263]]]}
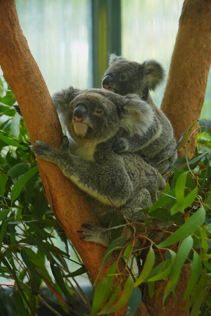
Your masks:
{"label": "brown trunk at the upper right, behind the smaller koala", "polygon": [[[177,141],[200,118],[211,63],[211,2],[185,0],[161,104],[173,124]],[[179,150],[184,156],[187,141]],[[195,150],[191,137],[189,155]]]}

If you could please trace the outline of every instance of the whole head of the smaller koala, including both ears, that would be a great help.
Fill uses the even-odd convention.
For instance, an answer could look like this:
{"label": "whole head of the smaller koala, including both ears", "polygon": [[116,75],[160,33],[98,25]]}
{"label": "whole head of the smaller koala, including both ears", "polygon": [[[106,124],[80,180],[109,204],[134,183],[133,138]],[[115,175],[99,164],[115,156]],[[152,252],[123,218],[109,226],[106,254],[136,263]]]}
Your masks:
{"label": "whole head of the smaller koala, including both ears", "polygon": [[164,70],[156,61],[139,64],[113,54],[103,75],[102,86],[121,95],[136,93],[147,99],[149,90],[154,90],[163,79]]}

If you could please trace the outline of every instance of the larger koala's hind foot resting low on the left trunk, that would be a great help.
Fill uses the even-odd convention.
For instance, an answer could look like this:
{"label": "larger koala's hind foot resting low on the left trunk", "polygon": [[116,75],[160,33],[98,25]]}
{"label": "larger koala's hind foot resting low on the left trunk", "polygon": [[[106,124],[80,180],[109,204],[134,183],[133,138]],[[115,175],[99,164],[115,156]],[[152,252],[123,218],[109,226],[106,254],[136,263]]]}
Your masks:
{"label": "larger koala's hind foot resting low on the left trunk", "polygon": [[80,239],[98,243],[105,247],[109,245],[110,238],[108,230],[91,224],[82,224],[81,227],[86,229],[77,231],[83,235]]}

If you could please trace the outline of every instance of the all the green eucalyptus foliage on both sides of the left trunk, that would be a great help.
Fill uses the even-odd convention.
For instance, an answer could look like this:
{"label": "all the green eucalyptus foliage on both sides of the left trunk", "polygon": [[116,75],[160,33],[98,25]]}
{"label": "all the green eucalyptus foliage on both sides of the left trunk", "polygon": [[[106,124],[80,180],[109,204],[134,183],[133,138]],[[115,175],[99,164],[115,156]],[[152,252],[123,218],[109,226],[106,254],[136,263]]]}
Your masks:
{"label": "all the green eucalyptus foliage on both sides of the left trunk", "polygon": [[[191,316],[210,314],[210,129],[199,130],[195,156],[178,160],[161,197],[143,210],[151,219],[132,223],[116,212],[102,269],[113,252],[117,251],[118,258],[104,280],[95,280],[90,306],[87,295],[74,282],[86,268],[46,201],[25,125],[12,108],[14,102],[0,77],[0,281],[10,282],[13,289],[5,291],[0,284],[0,315],[5,311],[8,315],[37,315],[38,302],[47,303],[41,292],[45,284],[64,312],[69,309],[67,302],[74,305],[76,297],[90,315],[108,314],[126,306],[125,315],[132,316],[142,300],[143,285],[152,297],[155,282],[162,280],[164,303],[170,293],[175,294],[187,263],[191,275],[181,297],[189,298],[184,308],[190,309]],[[184,140],[187,152],[189,137],[193,136],[188,133]],[[130,241],[121,236],[125,226],[131,229]]]}

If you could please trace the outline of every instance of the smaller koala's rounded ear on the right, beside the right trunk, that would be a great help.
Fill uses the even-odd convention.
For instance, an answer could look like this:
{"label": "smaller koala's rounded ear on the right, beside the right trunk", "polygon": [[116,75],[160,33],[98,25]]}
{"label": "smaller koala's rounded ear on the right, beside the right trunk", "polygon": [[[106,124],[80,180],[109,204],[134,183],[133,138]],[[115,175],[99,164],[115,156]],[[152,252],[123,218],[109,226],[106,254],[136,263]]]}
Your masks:
{"label": "smaller koala's rounded ear on the right, beside the right trunk", "polygon": [[154,90],[157,85],[164,81],[165,71],[158,62],[154,60],[148,60],[142,64],[142,67],[144,67],[143,80],[149,90]]}

